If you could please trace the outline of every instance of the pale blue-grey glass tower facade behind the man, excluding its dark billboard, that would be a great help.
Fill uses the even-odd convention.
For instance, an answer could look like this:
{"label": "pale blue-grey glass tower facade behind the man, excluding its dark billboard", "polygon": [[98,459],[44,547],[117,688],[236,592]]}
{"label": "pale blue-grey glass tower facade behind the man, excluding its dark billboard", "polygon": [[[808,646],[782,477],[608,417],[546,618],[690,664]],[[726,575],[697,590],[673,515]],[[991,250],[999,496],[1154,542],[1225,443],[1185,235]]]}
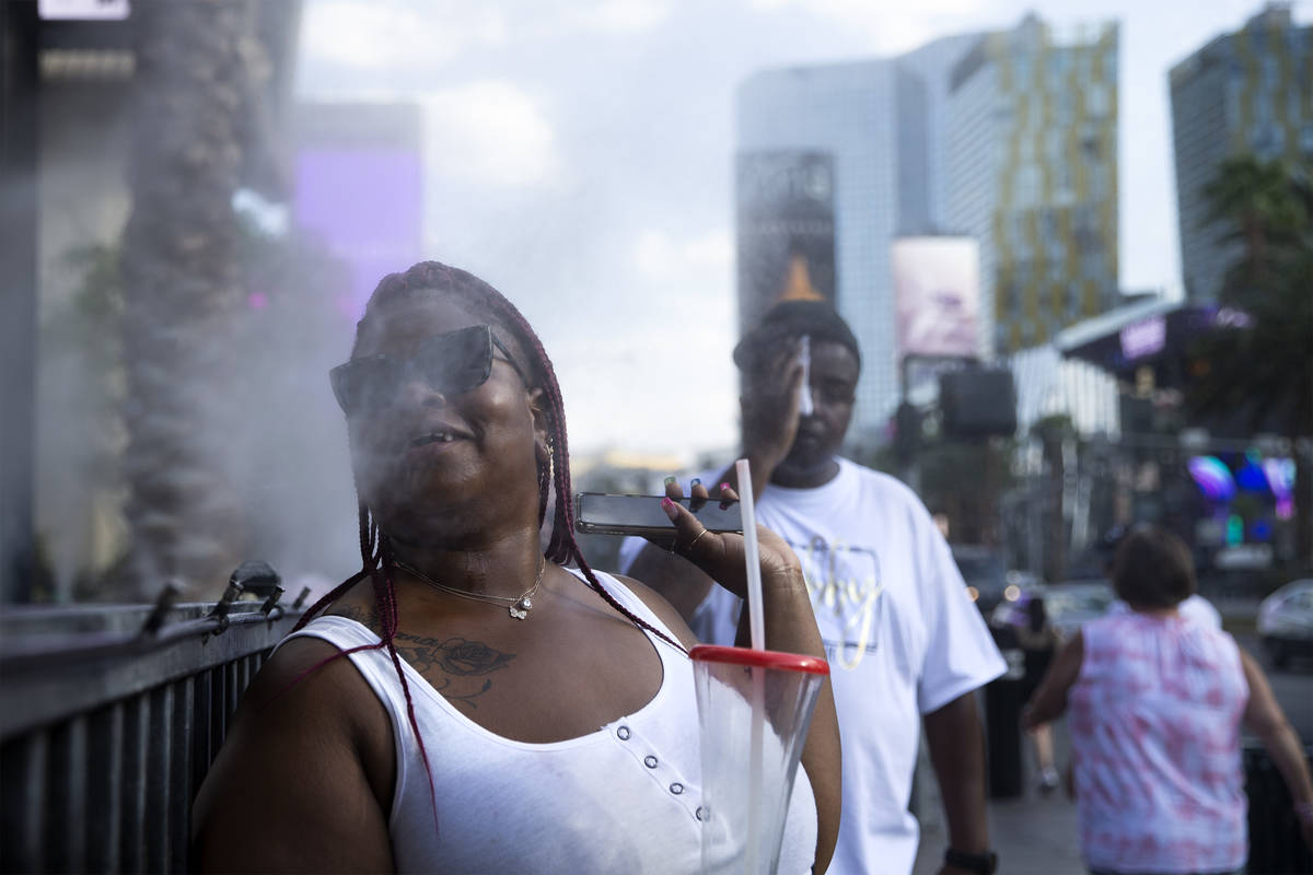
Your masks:
{"label": "pale blue-grey glass tower facade behind the man, excluding its dark billboard", "polygon": [[[880,433],[898,403],[890,244],[899,235],[943,230],[948,72],[974,41],[949,37],[899,58],[763,71],[738,92],[741,230],[744,205],[758,202],[743,189],[744,167],[790,152],[794,164],[827,159],[832,295],[863,346],[852,434],[859,442]],[[741,234],[741,261],[744,245]],[[741,270],[739,308],[759,312],[762,290],[742,277]],[[800,285],[796,273],[781,278],[777,294],[790,294],[789,283]],[[819,291],[827,296],[827,289]]]}

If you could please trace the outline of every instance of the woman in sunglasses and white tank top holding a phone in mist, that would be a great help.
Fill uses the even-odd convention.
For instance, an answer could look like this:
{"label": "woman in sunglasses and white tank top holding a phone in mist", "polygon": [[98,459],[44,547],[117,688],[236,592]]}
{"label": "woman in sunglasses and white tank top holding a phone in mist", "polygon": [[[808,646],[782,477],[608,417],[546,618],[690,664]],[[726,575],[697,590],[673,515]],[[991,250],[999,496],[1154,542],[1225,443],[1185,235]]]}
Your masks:
{"label": "woman in sunglasses and white tank top holding a phone in mist", "polygon": [[[364,565],[246,694],[197,796],[201,867],[699,871],[696,641],[659,596],[580,554],[561,391],[533,329],[487,283],[423,262],[379,283],[332,388]],[[742,537],[662,506],[672,548],[742,590]],[[797,558],[759,534],[767,645],[823,657]],[[781,872],[825,871],[834,850],[829,685],[802,766]]]}

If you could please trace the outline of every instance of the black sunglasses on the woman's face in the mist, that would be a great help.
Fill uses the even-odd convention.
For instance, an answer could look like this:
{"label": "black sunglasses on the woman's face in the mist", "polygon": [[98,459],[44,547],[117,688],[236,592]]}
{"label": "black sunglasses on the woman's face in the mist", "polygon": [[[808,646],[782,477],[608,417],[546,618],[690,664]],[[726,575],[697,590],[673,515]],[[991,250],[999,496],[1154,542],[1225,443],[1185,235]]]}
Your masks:
{"label": "black sunglasses on the woman's face in the mist", "polygon": [[429,337],[408,359],[391,356],[353,358],[328,371],[328,382],[347,416],[390,403],[412,376],[419,376],[442,395],[460,395],[487,380],[492,373],[494,346],[502,350],[506,363],[524,380],[524,371],[492,328],[471,325]]}

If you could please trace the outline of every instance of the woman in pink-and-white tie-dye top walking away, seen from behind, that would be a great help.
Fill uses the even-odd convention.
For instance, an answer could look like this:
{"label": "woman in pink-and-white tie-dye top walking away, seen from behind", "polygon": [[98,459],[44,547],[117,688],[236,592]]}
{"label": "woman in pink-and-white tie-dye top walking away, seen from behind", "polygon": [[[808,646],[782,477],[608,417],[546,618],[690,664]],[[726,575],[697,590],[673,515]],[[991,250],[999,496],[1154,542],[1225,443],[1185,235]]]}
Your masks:
{"label": "woman in pink-and-white tie-dye top walking away, seen from behind", "polygon": [[1159,529],[1121,543],[1112,584],[1128,614],[1086,623],[1056,657],[1025,725],[1069,706],[1081,847],[1094,872],[1234,872],[1249,853],[1241,723],[1285,778],[1313,844],[1299,736],[1254,660],[1182,617],[1190,551]]}

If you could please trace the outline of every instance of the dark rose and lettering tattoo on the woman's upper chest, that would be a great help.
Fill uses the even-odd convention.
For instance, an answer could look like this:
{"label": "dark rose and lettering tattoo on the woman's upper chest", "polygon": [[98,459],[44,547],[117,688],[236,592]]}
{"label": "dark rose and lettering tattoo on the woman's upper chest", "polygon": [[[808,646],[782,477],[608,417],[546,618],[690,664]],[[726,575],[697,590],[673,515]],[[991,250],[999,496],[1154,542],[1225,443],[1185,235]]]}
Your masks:
{"label": "dark rose and lettering tattoo on the woman's upper chest", "polygon": [[[344,605],[334,613],[368,626],[376,634],[382,628],[373,609]],[[397,655],[423,674],[445,699],[471,710],[478,708],[475,699],[492,689],[492,678],[488,676],[507,668],[515,659],[515,653],[458,635],[440,639],[398,631],[393,644]]]}

